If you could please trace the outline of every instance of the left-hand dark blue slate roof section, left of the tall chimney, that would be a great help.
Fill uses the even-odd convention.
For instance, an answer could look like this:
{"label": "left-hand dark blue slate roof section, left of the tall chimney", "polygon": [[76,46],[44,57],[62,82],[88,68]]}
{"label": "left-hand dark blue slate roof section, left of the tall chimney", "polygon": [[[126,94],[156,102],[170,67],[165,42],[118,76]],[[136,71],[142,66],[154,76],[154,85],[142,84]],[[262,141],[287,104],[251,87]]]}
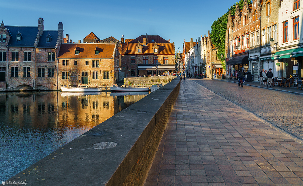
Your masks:
{"label": "left-hand dark blue slate roof section, left of the tall chimney", "polygon": [[[5,28],[9,30],[11,35],[8,42],[9,47],[34,47],[38,27],[5,26]],[[17,41],[16,38],[18,31],[22,33],[21,41]]]}

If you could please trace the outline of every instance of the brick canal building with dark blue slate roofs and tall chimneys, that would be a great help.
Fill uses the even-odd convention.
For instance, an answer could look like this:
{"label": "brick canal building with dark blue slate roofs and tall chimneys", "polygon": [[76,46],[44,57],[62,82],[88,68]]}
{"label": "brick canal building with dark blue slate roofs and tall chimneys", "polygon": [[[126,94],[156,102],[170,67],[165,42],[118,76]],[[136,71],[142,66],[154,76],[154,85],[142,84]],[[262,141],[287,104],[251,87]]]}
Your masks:
{"label": "brick canal building with dark blue slate roofs and tall chimneys", "polygon": [[58,50],[63,42],[63,24],[58,30],[38,27],[0,27],[0,90],[56,90]]}

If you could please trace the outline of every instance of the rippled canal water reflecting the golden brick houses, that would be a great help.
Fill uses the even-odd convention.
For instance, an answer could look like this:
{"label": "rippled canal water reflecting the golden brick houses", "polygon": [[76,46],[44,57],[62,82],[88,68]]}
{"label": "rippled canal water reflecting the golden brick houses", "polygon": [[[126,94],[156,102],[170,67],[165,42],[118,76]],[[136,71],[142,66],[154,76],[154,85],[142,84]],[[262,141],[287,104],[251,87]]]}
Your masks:
{"label": "rippled canal water reflecting the golden brick houses", "polygon": [[0,93],[0,183],[148,93]]}

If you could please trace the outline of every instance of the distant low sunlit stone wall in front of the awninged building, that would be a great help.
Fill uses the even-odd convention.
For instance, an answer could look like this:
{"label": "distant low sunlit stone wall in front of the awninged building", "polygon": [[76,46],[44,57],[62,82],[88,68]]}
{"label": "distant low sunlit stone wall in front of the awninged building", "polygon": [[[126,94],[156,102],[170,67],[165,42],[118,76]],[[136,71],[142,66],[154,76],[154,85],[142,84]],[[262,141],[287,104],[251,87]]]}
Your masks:
{"label": "distant low sunlit stone wall in front of the awninged building", "polygon": [[124,78],[125,80],[125,85],[138,85],[138,84],[168,84],[171,82],[171,80],[175,79],[176,77],[180,76],[155,76],[155,77],[126,77]]}

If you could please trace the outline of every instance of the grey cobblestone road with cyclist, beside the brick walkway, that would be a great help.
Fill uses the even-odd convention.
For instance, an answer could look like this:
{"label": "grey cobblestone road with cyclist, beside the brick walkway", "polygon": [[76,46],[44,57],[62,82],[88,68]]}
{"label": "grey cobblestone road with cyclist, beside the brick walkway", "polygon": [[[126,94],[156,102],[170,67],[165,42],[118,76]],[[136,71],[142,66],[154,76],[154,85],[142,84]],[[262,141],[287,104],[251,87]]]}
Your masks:
{"label": "grey cobblestone road with cyclist, beside the brick walkway", "polygon": [[[194,80],[278,128],[303,139],[303,96],[221,80]],[[250,82],[248,82],[250,83]],[[289,88],[288,88],[289,90]]]}

